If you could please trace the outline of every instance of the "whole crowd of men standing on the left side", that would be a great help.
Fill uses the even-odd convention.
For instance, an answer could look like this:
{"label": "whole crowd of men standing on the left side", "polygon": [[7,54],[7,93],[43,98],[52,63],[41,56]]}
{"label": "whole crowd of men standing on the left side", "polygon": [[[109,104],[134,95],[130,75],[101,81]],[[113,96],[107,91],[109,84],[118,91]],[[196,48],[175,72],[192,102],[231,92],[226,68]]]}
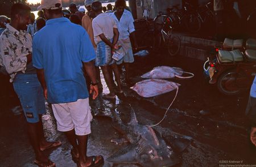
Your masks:
{"label": "whole crowd of men standing on the left side", "polygon": [[[123,93],[117,65],[125,65],[129,83],[129,64],[134,62],[131,41],[134,49],[137,42],[126,2],[117,0],[115,10],[109,4],[104,12],[101,2],[85,0],[85,8],[86,13],[71,3],[63,10],[61,0],[42,0],[36,19],[23,3],[11,7],[11,19],[0,16],[1,72],[9,74],[19,97],[38,166],[55,166],[44,150],[61,145],[44,137],[45,100],[52,106],[57,129],[73,146],[77,166],[94,166],[104,158],[86,156],[92,121],[89,93],[94,100],[102,92],[100,68],[110,91],[102,95],[104,99]],[[122,56],[115,60],[117,50]]]}

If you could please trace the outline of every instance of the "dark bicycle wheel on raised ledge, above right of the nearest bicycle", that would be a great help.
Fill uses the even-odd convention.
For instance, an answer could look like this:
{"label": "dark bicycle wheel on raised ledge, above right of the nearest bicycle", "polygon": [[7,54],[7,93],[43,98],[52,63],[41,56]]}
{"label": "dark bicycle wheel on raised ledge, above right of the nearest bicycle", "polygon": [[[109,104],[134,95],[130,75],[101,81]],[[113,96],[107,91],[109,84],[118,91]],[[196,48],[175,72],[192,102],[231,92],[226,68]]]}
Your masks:
{"label": "dark bicycle wheel on raised ledge, above right of the nearest bicycle", "polygon": [[201,28],[201,21],[196,14],[187,14],[185,16],[185,25],[189,32],[199,32]]}

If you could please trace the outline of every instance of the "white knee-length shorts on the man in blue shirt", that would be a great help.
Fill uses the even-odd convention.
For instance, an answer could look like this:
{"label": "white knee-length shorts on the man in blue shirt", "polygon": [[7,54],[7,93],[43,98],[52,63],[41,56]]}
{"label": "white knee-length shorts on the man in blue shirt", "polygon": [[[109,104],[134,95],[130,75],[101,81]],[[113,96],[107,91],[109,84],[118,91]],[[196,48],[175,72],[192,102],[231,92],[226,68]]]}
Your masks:
{"label": "white knee-length shorts on the man in blue shirt", "polygon": [[52,104],[52,110],[57,121],[57,130],[65,132],[75,128],[76,135],[90,134],[92,114],[89,98],[64,104]]}

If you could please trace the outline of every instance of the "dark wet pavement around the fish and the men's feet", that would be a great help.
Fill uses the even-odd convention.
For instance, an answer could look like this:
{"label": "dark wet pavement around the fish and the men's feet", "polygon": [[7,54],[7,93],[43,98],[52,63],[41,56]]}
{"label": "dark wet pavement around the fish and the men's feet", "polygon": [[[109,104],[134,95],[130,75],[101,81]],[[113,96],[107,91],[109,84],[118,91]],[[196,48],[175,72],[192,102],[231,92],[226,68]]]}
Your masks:
{"label": "dark wet pavement around the fish and the men's feet", "polygon": [[[133,84],[143,80],[140,76],[156,66],[181,67],[192,72],[192,79],[170,79],[181,84],[179,93],[167,117],[154,129],[167,140],[172,136],[184,136],[192,139],[191,144],[181,154],[181,164],[177,166],[219,166],[220,161],[243,161],[242,164],[255,164],[255,149],[249,144],[245,108],[249,91],[239,96],[224,96],[214,85],[209,85],[203,76],[203,63],[196,59],[167,54],[150,54],[147,57],[136,57],[131,66]],[[6,79],[5,79],[6,81]],[[3,82],[3,80],[2,80]],[[123,85],[124,95],[108,101],[98,97],[90,100],[92,112],[96,115],[92,122],[92,134],[89,136],[88,155],[103,155],[107,159],[124,145],[111,143],[119,134],[112,127],[112,119],[101,115],[118,115],[123,122],[130,118],[131,105],[139,123],[154,125],[162,118],[174,99],[175,91],[164,95],[143,98],[127,85]],[[10,85],[1,93],[0,109],[0,166],[35,166],[34,153],[26,135],[26,121],[23,113],[12,112],[19,105],[16,96],[10,96]],[[8,91],[6,91],[8,90]],[[9,92],[10,91],[10,92]],[[107,91],[104,90],[104,93]],[[4,96],[8,95],[8,96]],[[56,166],[76,166],[72,161],[65,136],[56,131],[54,120],[49,117],[51,109],[44,116],[46,135],[50,140],[59,139],[61,147],[47,151]],[[112,164],[105,161],[104,166],[136,166]]]}

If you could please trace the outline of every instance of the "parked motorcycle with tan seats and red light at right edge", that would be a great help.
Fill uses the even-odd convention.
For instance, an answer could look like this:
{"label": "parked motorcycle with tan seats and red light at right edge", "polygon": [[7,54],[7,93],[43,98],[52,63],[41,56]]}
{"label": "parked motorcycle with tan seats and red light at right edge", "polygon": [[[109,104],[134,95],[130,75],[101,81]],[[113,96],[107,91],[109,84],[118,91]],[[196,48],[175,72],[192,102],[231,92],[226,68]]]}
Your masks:
{"label": "parked motorcycle with tan seats and red light at right edge", "polygon": [[[233,48],[232,48],[233,49]],[[210,84],[217,84],[224,95],[238,95],[249,89],[256,72],[256,50],[216,48],[216,54],[204,63]]]}

